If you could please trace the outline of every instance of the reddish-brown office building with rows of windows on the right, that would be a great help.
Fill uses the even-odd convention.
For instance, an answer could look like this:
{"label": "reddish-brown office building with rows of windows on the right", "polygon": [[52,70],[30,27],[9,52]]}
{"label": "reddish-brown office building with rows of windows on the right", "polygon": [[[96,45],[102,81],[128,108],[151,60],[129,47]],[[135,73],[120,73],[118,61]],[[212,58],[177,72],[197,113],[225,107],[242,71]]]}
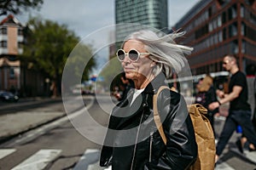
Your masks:
{"label": "reddish-brown office building with rows of windows on the right", "polygon": [[194,48],[188,56],[193,75],[222,71],[225,54],[234,54],[241,71],[256,64],[256,1],[203,0],[173,30],[187,34],[179,43]]}

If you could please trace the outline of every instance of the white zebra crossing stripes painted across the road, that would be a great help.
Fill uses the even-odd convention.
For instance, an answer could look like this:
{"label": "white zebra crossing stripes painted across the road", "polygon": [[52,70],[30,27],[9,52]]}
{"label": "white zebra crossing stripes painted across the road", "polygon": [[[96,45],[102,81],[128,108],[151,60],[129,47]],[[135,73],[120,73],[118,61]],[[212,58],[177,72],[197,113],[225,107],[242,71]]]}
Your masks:
{"label": "white zebra crossing stripes painted across the road", "polygon": [[[0,160],[6,156],[14,154],[16,149],[0,149]],[[28,156],[24,161],[21,161],[20,164],[12,167],[11,170],[44,170],[51,162],[55,161],[59,156],[61,156],[62,150],[38,150],[36,153],[32,154],[32,156]],[[239,154],[239,152],[235,149],[231,149],[230,151]],[[99,166],[99,156],[100,150],[97,149],[88,149],[84,151],[83,156],[80,157],[79,161],[72,168],[73,170],[106,170],[107,168],[103,168]],[[245,155],[248,160],[255,161],[256,163],[256,153],[247,152]],[[5,169],[4,167],[0,167],[0,169]],[[110,169],[110,168],[108,168]],[[215,170],[236,170],[234,167],[230,167],[224,161],[218,161],[216,164]]]}

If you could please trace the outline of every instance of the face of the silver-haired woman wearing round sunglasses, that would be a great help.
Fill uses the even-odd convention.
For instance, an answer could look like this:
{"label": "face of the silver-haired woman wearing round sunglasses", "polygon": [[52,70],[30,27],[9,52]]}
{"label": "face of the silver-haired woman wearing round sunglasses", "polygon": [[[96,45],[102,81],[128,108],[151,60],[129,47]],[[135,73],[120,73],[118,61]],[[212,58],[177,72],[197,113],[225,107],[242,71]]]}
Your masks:
{"label": "face of the silver-haired woman wearing round sunglasses", "polygon": [[[125,53],[128,53],[131,49],[136,49],[139,53],[147,53],[143,42],[139,42],[137,40],[128,40],[125,42]],[[131,61],[128,56],[125,55],[125,59],[122,61],[122,66],[125,70],[125,77],[131,80],[150,77],[154,65],[154,61],[148,59],[148,54],[141,54],[137,61]]]}

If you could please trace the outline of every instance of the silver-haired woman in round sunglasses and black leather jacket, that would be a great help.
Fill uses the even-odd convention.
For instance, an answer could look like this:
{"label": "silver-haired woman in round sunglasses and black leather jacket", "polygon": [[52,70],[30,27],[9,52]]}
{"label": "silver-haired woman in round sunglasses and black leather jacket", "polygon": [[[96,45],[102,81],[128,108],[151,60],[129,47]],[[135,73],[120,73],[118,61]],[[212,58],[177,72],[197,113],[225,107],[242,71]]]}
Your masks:
{"label": "silver-haired woman in round sunglasses and black leather jacket", "polygon": [[101,151],[102,167],[183,170],[196,160],[195,132],[181,94],[164,89],[157,99],[166,144],[154,122],[154,94],[160,86],[167,86],[172,69],[183,69],[183,54],[192,50],[173,42],[183,33],[158,37],[154,31],[137,31],[117,51],[125,77],[135,88],[113,108]]}

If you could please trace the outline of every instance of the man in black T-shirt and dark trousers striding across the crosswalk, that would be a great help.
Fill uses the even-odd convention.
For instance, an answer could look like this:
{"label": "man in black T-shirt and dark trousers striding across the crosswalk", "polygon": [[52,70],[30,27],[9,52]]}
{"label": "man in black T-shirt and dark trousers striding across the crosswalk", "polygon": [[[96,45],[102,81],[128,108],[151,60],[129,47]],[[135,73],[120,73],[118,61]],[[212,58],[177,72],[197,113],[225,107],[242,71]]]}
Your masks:
{"label": "man in black T-shirt and dark trousers striding across the crosswalk", "polygon": [[226,117],[224,128],[218,139],[215,161],[218,161],[218,157],[222,154],[237,125],[241,126],[244,135],[252,144],[250,150],[255,150],[256,146],[256,133],[251,122],[251,108],[247,103],[248,89],[246,76],[239,71],[236,58],[233,55],[224,56],[223,67],[226,71],[230,71],[231,74],[229,94],[224,94],[223,91],[217,90],[217,95],[220,99],[218,102],[213,102],[209,105],[209,109],[214,110],[220,105],[230,102],[229,115]]}

